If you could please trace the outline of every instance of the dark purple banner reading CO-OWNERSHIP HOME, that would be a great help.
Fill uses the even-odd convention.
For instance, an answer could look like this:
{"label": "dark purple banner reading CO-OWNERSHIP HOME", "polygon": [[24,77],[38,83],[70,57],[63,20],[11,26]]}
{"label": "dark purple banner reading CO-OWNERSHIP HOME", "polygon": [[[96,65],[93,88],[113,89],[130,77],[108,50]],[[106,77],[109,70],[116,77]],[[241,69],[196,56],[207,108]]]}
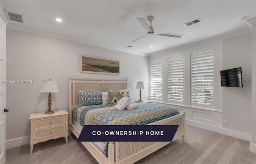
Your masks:
{"label": "dark purple banner reading CO-OWNERSHIP HOME", "polygon": [[178,125],[84,125],[78,142],[170,142]]}

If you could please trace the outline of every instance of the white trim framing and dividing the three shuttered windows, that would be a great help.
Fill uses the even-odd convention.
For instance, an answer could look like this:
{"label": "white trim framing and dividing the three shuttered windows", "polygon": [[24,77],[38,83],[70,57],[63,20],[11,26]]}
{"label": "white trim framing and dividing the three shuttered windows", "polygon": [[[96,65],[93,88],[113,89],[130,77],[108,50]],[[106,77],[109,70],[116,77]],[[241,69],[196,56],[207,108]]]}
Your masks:
{"label": "white trim framing and dividing the three shuttered windows", "polygon": [[[190,61],[185,61],[185,58],[190,58],[190,54],[198,53],[198,52],[205,52],[205,51],[210,51],[210,50],[215,50],[214,54],[214,104],[215,104],[215,109],[211,108],[200,108],[200,107],[192,107],[190,106]],[[195,108],[195,109],[200,109],[200,110],[212,110],[212,111],[217,111],[217,112],[222,112],[222,87],[218,84],[220,81],[220,71],[222,70],[222,41],[219,42],[212,42],[209,44],[193,44],[193,46],[187,47],[187,46],[182,46],[180,48],[173,48],[168,51],[162,51],[158,52],[157,56],[150,56],[149,57],[149,62],[151,61],[156,61],[156,60],[162,60],[163,61],[163,95],[162,95],[162,100],[153,100],[155,102],[159,103],[165,103],[165,104],[171,104],[171,105],[176,105],[176,106],[184,106],[184,107],[190,107]],[[167,102],[167,58],[175,57],[175,56],[182,56],[184,55],[184,90],[189,90],[188,92],[184,92],[184,105],[181,104],[175,104],[175,103],[170,103]],[[186,74],[186,75],[185,75]],[[217,80],[217,81],[216,81]],[[149,87],[150,89],[150,87]]]}

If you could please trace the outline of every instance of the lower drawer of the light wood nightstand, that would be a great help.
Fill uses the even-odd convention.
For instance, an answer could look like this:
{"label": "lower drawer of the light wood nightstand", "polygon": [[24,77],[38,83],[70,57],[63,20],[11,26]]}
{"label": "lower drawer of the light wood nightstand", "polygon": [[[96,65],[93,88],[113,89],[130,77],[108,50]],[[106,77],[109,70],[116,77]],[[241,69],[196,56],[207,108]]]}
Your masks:
{"label": "lower drawer of the light wood nightstand", "polygon": [[52,136],[57,136],[60,134],[65,134],[65,133],[66,133],[66,125],[57,126],[54,128],[34,130],[33,131],[33,140],[40,140],[42,138],[50,138]]}

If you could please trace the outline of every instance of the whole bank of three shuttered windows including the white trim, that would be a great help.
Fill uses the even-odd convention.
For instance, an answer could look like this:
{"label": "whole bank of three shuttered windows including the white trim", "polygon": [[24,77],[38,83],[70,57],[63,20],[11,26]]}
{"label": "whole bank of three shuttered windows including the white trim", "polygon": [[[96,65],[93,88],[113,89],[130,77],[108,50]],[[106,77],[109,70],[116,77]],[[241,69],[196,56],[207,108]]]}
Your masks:
{"label": "whole bank of three shuttered windows including the white trim", "polygon": [[152,54],[150,100],[222,111],[221,70],[222,42]]}

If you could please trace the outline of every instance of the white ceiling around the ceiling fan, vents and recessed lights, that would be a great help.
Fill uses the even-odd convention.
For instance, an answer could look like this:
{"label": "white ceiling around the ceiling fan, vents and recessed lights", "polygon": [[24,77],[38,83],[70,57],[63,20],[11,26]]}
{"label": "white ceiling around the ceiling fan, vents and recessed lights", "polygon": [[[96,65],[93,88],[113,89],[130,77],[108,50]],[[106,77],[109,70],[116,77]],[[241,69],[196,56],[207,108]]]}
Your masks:
{"label": "white ceiling around the ceiling fan, vents and recessed lights", "polygon": [[[29,27],[108,48],[121,48],[150,54],[216,36],[249,31],[243,16],[256,16],[255,0],[222,1],[139,1],[84,0],[38,1],[0,0],[3,9],[23,14],[23,26],[9,23],[7,28]],[[154,16],[154,32],[184,34],[182,38],[147,36],[136,17]],[[56,22],[61,18],[62,22]],[[185,22],[200,18],[192,26]],[[124,48],[131,45],[132,48]],[[153,46],[153,48],[149,48]]]}

